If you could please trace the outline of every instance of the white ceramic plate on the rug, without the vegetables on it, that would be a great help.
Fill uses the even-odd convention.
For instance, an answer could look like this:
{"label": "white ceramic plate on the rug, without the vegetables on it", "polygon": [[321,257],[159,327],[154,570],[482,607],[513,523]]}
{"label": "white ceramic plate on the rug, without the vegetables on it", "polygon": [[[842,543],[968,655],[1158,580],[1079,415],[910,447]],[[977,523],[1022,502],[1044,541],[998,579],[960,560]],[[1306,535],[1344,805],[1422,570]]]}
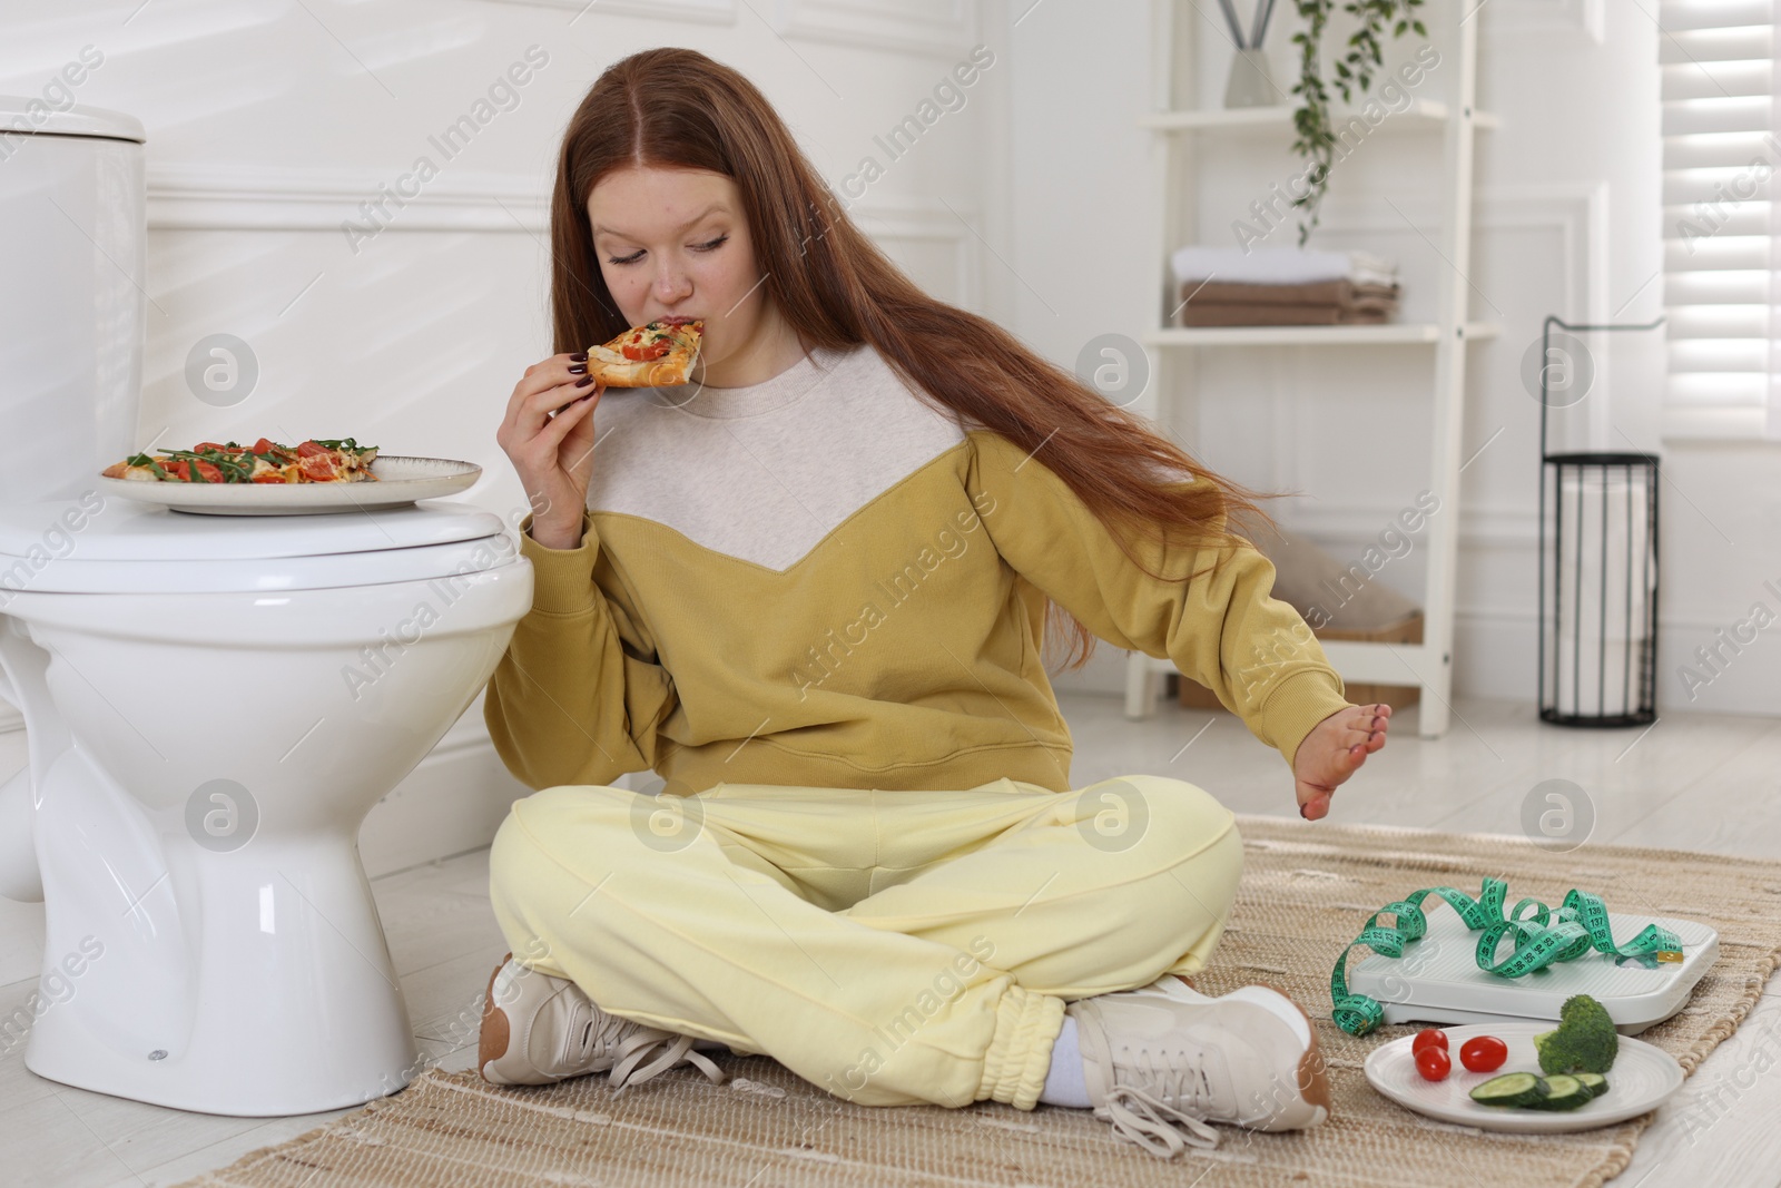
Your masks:
{"label": "white ceramic plate on the rug, without the vegetables on it", "polygon": [[[1471,1090],[1494,1076],[1505,1072],[1541,1074],[1541,1062],[1533,1053],[1533,1037],[1551,1031],[1549,1022],[1500,1022],[1468,1024],[1462,1028],[1441,1028],[1448,1037],[1448,1054],[1453,1058],[1453,1070],[1444,1081],[1425,1081],[1416,1070],[1416,1058],[1411,1053],[1414,1035],[1393,1040],[1373,1049],[1366,1058],[1366,1079],[1386,1097],[1400,1106],[1427,1113],[1443,1122],[1476,1126],[1485,1131],[1510,1131],[1517,1135],[1553,1135],[1560,1131],[1587,1131],[1598,1126],[1610,1126],[1637,1119],[1647,1110],[1656,1110],[1663,1101],[1681,1088],[1681,1065],[1662,1047],[1653,1047],[1644,1040],[1621,1037],[1619,1054],[1614,1067],[1603,1076],[1608,1078],[1608,1092],[1578,1106],[1576,1110],[1512,1110],[1503,1106],[1480,1106],[1471,1099]],[[1509,1046],[1509,1060],[1496,1072],[1468,1072],[1459,1062],[1460,1046],[1475,1035],[1494,1035]]]}

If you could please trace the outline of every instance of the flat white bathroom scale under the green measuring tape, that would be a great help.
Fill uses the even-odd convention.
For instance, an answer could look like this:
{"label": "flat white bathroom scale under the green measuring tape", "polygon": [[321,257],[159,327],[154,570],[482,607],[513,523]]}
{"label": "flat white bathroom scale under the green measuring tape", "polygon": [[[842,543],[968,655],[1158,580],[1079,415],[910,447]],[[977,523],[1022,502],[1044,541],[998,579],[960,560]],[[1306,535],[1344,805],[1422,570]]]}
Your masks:
{"label": "flat white bathroom scale under the green measuring tape", "polygon": [[[1573,994],[1589,994],[1614,1019],[1621,1035],[1637,1035],[1674,1015],[1694,983],[1719,956],[1719,933],[1687,919],[1610,912],[1615,944],[1637,937],[1646,924],[1669,928],[1681,940],[1681,962],[1649,956],[1612,956],[1590,949],[1574,962],[1505,978],[1478,969],[1478,933],[1457,912],[1432,910],[1428,932],[1407,944],[1403,956],[1368,955],[1348,971],[1348,990],[1377,1001],[1386,1022],[1487,1022],[1558,1019]],[[1507,955],[1509,940],[1501,953]],[[1542,1026],[1541,1029],[1548,1029]]]}

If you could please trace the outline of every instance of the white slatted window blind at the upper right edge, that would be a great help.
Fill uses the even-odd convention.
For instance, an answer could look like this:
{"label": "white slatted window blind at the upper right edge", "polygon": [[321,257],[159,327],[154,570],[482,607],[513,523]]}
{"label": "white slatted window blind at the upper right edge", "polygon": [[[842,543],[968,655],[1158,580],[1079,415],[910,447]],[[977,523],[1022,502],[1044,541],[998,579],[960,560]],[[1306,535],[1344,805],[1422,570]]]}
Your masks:
{"label": "white slatted window blind at the upper right edge", "polygon": [[1777,0],[1662,0],[1663,435],[1781,440]]}

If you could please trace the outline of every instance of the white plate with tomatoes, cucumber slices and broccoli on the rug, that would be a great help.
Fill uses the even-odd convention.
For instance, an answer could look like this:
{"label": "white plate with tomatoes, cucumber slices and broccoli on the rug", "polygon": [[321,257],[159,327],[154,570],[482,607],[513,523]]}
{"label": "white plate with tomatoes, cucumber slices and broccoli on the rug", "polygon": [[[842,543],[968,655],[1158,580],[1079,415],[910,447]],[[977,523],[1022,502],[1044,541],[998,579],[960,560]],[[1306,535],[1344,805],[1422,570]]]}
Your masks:
{"label": "white plate with tomatoes, cucumber slices and broccoli on the rug", "polygon": [[1400,1106],[1487,1131],[1585,1131],[1656,1110],[1678,1088],[1676,1058],[1626,1038],[1596,999],[1560,1022],[1425,1028],[1366,1058],[1366,1079]]}

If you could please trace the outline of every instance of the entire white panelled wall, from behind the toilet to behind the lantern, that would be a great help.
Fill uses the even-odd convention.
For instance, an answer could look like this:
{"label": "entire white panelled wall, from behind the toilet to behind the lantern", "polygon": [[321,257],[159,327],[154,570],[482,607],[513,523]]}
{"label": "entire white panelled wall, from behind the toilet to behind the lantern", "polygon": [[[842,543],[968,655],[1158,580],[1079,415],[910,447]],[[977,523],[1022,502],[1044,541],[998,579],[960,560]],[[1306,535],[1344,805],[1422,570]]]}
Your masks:
{"label": "entire white panelled wall, from behind the toilet to behind the lantern", "polygon": [[[1179,11],[1202,20],[1193,5]],[[1464,474],[1455,673],[1464,693],[1532,700],[1537,404],[1517,365],[1548,312],[1631,321],[1660,308],[1660,285],[1646,285],[1660,260],[1656,30],[1637,5],[1603,0],[1492,0],[1476,20],[1480,102],[1501,128],[1480,134],[1473,313],[1503,333],[1473,354],[1468,452],[1501,435]],[[1279,78],[1289,77],[1289,32],[1279,5]],[[748,73],[834,185],[880,157],[885,176],[853,212],[937,296],[1001,319],[1065,365],[1095,335],[1136,335],[1151,319],[1154,178],[1136,128],[1149,107],[1147,0],[9,0],[0,93],[39,94],[94,46],[103,64],[78,102],[148,126],[142,443],[351,433],[481,463],[468,499],[511,517],[522,499],[493,427],[520,370],[549,351],[541,235],[557,137],[607,62],[664,43]],[[873,137],[915,112],[976,43],[996,66],[964,110],[885,162]],[[529,46],[549,61],[518,105],[442,160],[429,137],[472,112]],[[1190,82],[1216,100],[1224,64],[1208,55]],[[1320,232],[1325,246],[1396,255],[1409,315],[1443,265],[1380,198],[1439,239],[1432,191],[1416,180],[1428,144],[1370,141],[1336,178]],[[354,251],[342,221],[363,219],[360,203],[420,155],[442,166],[438,178]],[[1206,233],[1224,233],[1254,182],[1291,164],[1281,144],[1243,148],[1225,189],[1200,194]],[[185,387],[185,356],[210,333],[256,354],[258,387],[235,408]],[[1619,426],[1665,454],[1667,711],[1688,705],[1676,668],[1697,645],[1753,602],[1776,606],[1761,582],[1781,584],[1781,452],[1660,443],[1658,367],[1649,354],[1605,365],[1614,383],[1587,403],[1585,427],[1599,445],[1621,442]],[[1366,369],[1346,353],[1209,354],[1204,419],[1174,429],[1232,477],[1304,492],[1277,504],[1282,518],[1355,556],[1427,481],[1427,376],[1412,347],[1375,353]],[[1382,581],[1419,595],[1419,554]],[[1781,712],[1777,634],[1747,647],[1694,705]],[[1060,686],[1117,691],[1122,655],[1102,647]],[[477,844],[513,791],[472,707],[372,814],[367,862],[390,869]]]}

